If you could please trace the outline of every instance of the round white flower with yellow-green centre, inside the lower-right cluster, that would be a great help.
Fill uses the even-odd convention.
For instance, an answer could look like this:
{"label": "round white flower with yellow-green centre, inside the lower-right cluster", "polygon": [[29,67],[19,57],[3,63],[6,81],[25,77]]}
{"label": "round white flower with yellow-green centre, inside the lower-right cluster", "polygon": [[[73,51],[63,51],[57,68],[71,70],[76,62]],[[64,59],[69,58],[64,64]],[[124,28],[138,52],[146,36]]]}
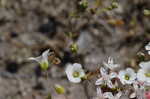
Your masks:
{"label": "round white flower with yellow-green centre, inside the lower-right cluster", "polygon": [[119,72],[118,78],[120,79],[122,84],[132,84],[135,82],[136,73],[133,69],[127,68],[126,70],[121,70]]}

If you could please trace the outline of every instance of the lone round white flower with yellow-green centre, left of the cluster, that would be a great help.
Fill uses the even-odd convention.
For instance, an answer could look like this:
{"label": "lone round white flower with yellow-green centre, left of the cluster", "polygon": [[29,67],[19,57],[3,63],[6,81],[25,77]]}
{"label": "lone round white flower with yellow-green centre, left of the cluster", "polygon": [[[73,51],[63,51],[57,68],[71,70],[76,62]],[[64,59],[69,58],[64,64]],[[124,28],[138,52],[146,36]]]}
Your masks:
{"label": "lone round white flower with yellow-green centre, left of the cluster", "polygon": [[69,64],[65,72],[69,81],[73,83],[81,82],[81,78],[85,76],[85,72],[82,69],[81,64],[78,63],[74,63],[73,65]]}

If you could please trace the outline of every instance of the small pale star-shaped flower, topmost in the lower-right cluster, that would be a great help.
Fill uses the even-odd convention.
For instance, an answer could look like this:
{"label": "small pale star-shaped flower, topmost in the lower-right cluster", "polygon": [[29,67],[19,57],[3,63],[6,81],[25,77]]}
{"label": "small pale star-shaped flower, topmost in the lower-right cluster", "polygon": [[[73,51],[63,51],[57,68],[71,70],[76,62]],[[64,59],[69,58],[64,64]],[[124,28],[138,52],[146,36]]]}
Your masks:
{"label": "small pale star-shaped flower, topmost in the lower-right cluster", "polygon": [[109,57],[108,62],[103,62],[103,64],[110,70],[114,70],[115,68],[119,67],[119,64],[114,64],[114,59],[112,57]]}

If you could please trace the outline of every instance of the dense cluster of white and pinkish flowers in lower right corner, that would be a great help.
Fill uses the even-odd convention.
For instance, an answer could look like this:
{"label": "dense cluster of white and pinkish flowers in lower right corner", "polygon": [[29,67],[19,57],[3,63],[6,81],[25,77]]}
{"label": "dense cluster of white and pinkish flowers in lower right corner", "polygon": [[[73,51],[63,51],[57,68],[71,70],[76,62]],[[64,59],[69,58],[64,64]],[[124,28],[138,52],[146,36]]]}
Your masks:
{"label": "dense cluster of white and pinkish flowers in lower right corner", "polygon": [[[122,87],[128,85],[132,87],[134,92],[131,95],[128,95],[129,98],[144,99],[144,86],[150,86],[150,61],[149,62],[141,62],[139,66],[141,67],[136,73],[132,68],[127,68],[125,70],[120,70],[119,72],[113,72],[114,68],[119,65],[114,64],[113,59],[108,59],[108,63],[105,63],[105,67],[100,68],[100,78],[96,81],[95,85],[106,85],[109,88]],[[109,73],[108,73],[109,71]],[[112,79],[116,78],[116,83],[112,84]],[[117,81],[119,79],[119,81]],[[121,85],[118,84],[121,82]],[[100,86],[99,86],[100,88]],[[123,87],[122,87],[123,88]],[[101,88],[99,89],[101,90]],[[97,90],[97,91],[99,91]],[[127,89],[122,89],[127,90]],[[130,89],[128,89],[130,90]],[[101,96],[103,94],[103,99],[120,99],[121,91],[118,92],[115,96],[113,96],[112,92],[97,92],[100,93]],[[128,99],[129,99],[128,98]]]}

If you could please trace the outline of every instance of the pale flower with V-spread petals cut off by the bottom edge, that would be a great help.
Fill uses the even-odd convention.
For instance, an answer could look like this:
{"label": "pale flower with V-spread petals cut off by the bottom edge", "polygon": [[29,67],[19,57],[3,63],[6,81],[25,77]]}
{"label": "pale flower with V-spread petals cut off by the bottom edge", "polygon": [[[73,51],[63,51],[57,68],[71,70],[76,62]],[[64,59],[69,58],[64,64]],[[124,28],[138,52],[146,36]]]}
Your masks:
{"label": "pale flower with V-spread petals cut off by the bottom edge", "polygon": [[107,99],[120,99],[122,92],[118,92],[116,95],[113,95],[111,92],[105,92],[104,97]]}

